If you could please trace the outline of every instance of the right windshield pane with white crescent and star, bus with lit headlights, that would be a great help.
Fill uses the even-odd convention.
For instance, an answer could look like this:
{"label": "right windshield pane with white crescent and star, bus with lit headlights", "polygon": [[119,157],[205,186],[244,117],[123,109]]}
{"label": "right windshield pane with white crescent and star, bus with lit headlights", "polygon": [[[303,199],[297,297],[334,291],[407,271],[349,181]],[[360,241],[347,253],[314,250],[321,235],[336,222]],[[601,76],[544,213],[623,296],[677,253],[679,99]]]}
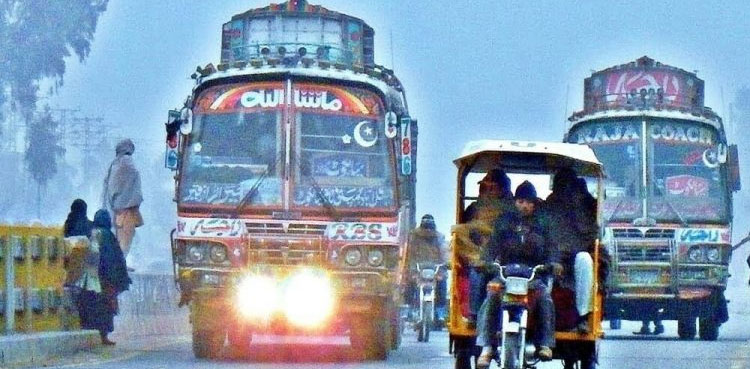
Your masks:
{"label": "right windshield pane with white crescent and star, bus with lit headlights", "polygon": [[[331,110],[340,109],[335,113],[296,107],[298,160],[294,165],[297,180],[292,205],[349,209],[394,206],[393,154],[391,141],[383,132],[380,98],[368,91],[347,88],[348,101],[345,101],[344,96],[339,96],[344,94],[340,88],[319,85],[296,88],[327,96]],[[331,102],[333,96],[340,103]]]}

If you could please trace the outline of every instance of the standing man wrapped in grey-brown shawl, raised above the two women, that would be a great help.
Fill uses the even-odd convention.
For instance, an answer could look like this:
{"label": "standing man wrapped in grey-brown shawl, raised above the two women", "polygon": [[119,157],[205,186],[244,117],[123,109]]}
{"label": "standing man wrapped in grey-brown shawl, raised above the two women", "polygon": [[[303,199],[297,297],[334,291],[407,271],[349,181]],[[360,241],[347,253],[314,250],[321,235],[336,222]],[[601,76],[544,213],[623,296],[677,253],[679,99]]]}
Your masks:
{"label": "standing man wrapped in grey-brown shawl, raised above the two women", "polygon": [[143,225],[139,207],[143,202],[141,175],[133,163],[135,145],[130,139],[115,147],[115,159],[104,178],[102,208],[107,209],[115,223],[115,233],[125,256],[135,236],[135,228]]}

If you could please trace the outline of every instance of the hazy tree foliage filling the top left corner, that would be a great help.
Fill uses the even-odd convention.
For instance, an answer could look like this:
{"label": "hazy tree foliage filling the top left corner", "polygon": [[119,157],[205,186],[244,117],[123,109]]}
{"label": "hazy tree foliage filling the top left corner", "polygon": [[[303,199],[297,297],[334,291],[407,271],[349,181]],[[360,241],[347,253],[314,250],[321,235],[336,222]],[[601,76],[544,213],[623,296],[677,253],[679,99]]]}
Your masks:
{"label": "hazy tree foliage filling the top left corner", "polygon": [[[88,57],[109,0],[0,0],[0,105],[7,101],[28,123],[39,82],[63,83],[65,58]],[[2,117],[0,117],[2,118]]]}

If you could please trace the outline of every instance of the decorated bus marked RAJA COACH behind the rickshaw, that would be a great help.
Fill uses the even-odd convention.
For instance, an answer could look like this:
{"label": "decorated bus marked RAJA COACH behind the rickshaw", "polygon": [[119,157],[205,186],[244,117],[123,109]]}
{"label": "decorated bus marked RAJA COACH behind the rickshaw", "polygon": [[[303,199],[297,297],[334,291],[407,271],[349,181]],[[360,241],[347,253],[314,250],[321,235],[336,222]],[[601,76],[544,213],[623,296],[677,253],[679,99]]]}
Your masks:
{"label": "decorated bus marked RAJA COACH behind the rickshaw", "polygon": [[[695,73],[648,57],[593,73],[565,141],[606,173],[603,243],[612,256],[605,315],[677,320],[682,339],[715,340],[726,321],[736,146],[704,105]],[[699,322],[696,328],[696,321]]]}

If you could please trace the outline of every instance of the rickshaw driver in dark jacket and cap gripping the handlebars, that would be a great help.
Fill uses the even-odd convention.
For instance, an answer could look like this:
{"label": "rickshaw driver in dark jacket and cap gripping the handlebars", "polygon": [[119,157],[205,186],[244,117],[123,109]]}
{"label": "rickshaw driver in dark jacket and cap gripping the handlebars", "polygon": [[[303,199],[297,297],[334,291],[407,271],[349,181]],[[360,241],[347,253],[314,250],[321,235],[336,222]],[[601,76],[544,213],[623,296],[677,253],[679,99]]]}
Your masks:
{"label": "rickshaw driver in dark jacket and cap gripping the handlebars", "polygon": [[[553,239],[547,233],[549,227],[545,225],[544,215],[537,211],[540,201],[531,182],[524,181],[516,188],[517,212],[507,212],[495,222],[489,247],[483,255],[486,262],[497,260],[502,265],[523,264],[529,267],[552,265],[554,272],[560,270]],[[548,275],[540,275],[530,285],[540,294],[530,313],[536,317],[537,330],[533,341],[537,346],[537,356],[542,360],[552,359],[552,347],[555,345],[555,307],[548,280]],[[477,361],[478,367],[489,366],[494,356],[497,346],[495,332],[501,324],[500,297],[499,293],[490,292],[482,304],[477,344],[483,347]]]}

